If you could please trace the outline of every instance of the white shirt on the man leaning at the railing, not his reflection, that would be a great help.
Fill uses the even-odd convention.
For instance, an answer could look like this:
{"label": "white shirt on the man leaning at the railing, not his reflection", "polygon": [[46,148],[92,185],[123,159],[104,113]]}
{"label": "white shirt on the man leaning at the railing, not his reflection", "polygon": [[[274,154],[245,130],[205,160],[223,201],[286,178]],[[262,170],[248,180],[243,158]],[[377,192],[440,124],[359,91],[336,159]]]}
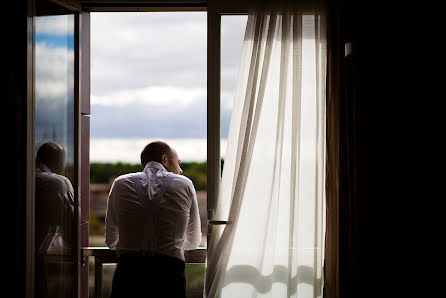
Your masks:
{"label": "white shirt on the man leaning at the railing, not his reflection", "polygon": [[[155,251],[184,261],[184,250],[196,249],[201,241],[200,215],[192,181],[185,176],[167,172],[158,162],[147,163],[143,172],[137,174],[148,200],[160,191],[168,174],[174,175],[160,202]],[[107,245],[116,248],[118,253],[143,250],[147,216],[149,214],[139,202],[132,174],[116,178],[107,202]]]}

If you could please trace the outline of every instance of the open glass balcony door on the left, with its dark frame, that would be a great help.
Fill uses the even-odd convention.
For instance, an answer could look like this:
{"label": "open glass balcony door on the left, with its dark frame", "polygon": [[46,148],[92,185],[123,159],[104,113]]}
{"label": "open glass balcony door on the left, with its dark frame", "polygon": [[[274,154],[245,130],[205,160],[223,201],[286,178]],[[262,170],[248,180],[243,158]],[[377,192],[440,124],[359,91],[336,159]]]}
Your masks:
{"label": "open glass balcony door on the left, with its dark frame", "polygon": [[[68,209],[45,210],[46,205],[41,202],[50,203],[51,195],[38,193],[41,188],[36,179],[34,218],[28,219],[36,238],[31,245],[34,251],[34,277],[30,277],[32,296],[69,293],[70,297],[87,298],[88,257],[83,256],[82,248],[88,246],[90,217],[90,13],[82,11],[81,5],[73,1],[36,0],[34,3],[34,149],[37,152],[46,142],[59,143],[65,149],[65,168],[61,175],[72,185],[73,211],[68,215]],[[51,254],[51,249],[41,249],[43,237],[39,229],[48,225],[45,218],[52,215],[62,218],[69,231],[65,233],[69,238],[69,252]]]}

